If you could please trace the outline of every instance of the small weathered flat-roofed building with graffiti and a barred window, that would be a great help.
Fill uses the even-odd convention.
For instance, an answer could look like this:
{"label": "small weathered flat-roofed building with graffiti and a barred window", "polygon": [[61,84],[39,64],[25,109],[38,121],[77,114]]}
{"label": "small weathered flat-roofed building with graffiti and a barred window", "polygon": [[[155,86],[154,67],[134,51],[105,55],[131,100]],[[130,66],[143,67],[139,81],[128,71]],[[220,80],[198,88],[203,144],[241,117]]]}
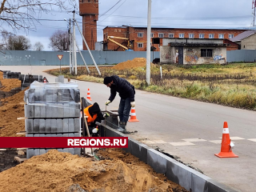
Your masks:
{"label": "small weathered flat-roofed building with graffiti and a barred window", "polygon": [[[154,39],[157,42],[157,39]],[[226,63],[225,39],[162,38],[160,62],[174,64]]]}

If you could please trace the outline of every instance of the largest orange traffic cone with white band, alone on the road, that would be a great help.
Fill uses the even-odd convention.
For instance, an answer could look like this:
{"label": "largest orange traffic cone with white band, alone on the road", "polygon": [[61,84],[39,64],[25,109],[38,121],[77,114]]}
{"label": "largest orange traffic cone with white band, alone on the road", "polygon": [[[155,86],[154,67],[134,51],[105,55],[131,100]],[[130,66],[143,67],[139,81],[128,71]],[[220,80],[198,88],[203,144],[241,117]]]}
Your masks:
{"label": "largest orange traffic cone with white band, alone on the road", "polygon": [[218,158],[238,158],[238,155],[234,154],[230,146],[230,131],[227,126],[227,122],[224,122],[223,132],[222,132],[222,148],[219,154],[214,154]]}

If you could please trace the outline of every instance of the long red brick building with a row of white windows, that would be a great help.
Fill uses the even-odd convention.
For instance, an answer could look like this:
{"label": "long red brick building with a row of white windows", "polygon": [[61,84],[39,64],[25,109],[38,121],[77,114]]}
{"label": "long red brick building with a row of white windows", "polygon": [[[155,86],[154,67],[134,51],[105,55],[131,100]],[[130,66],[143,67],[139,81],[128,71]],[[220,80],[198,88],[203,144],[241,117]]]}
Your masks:
{"label": "long red brick building with a row of white windows", "polygon": [[[151,50],[159,51],[162,46],[162,38],[220,38],[230,39],[248,29],[182,29],[182,28],[164,28],[152,27],[151,29],[151,43],[152,38],[159,38],[159,44],[151,44]],[[120,43],[122,46],[110,42],[109,36],[128,38],[131,46],[130,49],[134,51],[146,51],[146,26],[106,26],[103,29],[103,50],[124,50],[122,46],[128,45],[128,40],[113,38],[114,41]],[[228,41],[230,42],[230,41]],[[238,49],[235,43],[230,42],[230,48],[227,50]]]}

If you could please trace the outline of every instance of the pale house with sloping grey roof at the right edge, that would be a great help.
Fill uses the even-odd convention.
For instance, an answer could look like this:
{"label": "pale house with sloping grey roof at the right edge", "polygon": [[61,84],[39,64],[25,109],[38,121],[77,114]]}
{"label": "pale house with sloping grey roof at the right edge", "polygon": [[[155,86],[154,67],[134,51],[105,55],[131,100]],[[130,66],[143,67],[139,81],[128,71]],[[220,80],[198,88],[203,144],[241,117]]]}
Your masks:
{"label": "pale house with sloping grey roof at the right edge", "polygon": [[256,50],[256,30],[246,30],[230,39],[239,45],[239,50]]}

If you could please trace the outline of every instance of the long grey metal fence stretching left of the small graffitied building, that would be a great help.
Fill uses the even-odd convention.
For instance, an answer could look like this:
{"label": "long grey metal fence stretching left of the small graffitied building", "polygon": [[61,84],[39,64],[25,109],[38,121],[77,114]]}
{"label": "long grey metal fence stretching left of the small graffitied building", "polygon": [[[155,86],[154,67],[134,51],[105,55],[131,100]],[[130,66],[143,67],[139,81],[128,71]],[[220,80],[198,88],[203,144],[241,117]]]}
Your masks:
{"label": "long grey metal fence stretching left of the small graffitied building", "polygon": [[[146,58],[146,51],[91,51],[98,65],[116,64],[134,58]],[[60,61],[58,54],[62,54]],[[93,65],[88,51],[82,51],[87,65]],[[159,52],[151,52],[151,62],[160,58]],[[82,58],[77,53],[78,66],[83,66]],[[70,53],[60,51],[30,51],[30,50],[2,50],[0,52],[0,65],[2,66],[69,66]]]}

